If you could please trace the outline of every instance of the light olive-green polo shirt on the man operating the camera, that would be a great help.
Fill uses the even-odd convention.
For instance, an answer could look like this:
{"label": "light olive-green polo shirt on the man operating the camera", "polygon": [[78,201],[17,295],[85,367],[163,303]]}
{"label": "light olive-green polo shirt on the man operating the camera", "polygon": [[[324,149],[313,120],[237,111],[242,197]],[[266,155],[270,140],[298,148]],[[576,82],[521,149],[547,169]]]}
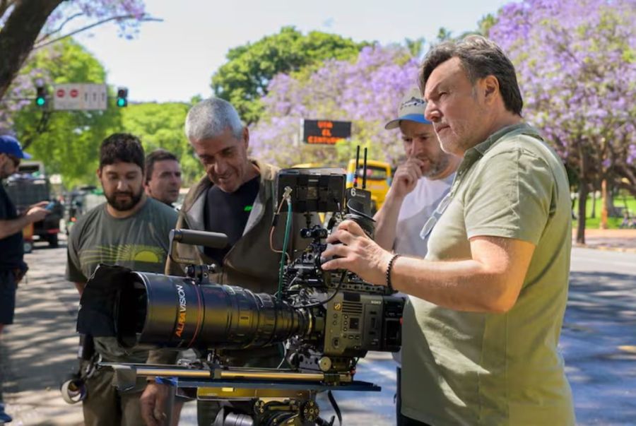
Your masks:
{"label": "light olive-green polo shirt on the man operating the camera", "polygon": [[402,413],[435,426],[574,425],[557,348],[572,244],[563,164],[535,129],[509,126],[466,151],[451,195],[426,259],[471,259],[469,239],[477,236],[536,248],[517,302],[504,314],[459,312],[410,297]]}

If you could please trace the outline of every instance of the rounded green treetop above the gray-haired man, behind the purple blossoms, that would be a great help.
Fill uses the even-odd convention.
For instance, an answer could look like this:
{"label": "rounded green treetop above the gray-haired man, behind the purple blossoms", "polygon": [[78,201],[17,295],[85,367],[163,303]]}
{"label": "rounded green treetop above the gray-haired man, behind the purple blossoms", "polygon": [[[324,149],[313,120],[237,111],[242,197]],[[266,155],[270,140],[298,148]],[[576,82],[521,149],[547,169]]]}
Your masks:
{"label": "rounded green treetop above the gray-haired man, behind the purple blossoms", "polygon": [[212,76],[212,89],[232,102],[245,122],[257,122],[263,110],[260,98],[267,94],[273,76],[317,66],[325,59],[353,59],[367,45],[340,35],[319,31],[303,35],[283,27],[278,34],[230,49],[228,62]]}

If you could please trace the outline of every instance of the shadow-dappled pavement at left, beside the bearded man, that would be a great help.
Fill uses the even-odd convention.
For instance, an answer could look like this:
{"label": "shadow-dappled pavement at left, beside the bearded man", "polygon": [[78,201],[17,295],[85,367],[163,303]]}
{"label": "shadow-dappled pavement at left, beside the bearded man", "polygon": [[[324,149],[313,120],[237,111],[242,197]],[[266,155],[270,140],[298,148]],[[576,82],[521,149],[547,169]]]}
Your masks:
{"label": "shadow-dappled pavement at left, beside the bearded man", "polygon": [[4,329],[0,344],[4,402],[13,416],[7,426],[83,425],[81,404],[71,406],[59,393],[77,367],[78,345],[79,296],[64,280],[65,254],[66,247],[39,244],[25,256],[30,271],[18,287],[14,324]]}

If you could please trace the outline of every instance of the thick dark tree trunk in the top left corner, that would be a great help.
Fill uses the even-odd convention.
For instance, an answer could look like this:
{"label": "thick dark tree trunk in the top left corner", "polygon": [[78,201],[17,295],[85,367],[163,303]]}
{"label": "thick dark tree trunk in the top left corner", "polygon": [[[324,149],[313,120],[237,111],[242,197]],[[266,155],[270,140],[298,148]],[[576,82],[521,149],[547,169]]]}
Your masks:
{"label": "thick dark tree trunk in the top left corner", "polygon": [[52,11],[63,0],[18,0],[0,30],[0,99],[28,58]]}

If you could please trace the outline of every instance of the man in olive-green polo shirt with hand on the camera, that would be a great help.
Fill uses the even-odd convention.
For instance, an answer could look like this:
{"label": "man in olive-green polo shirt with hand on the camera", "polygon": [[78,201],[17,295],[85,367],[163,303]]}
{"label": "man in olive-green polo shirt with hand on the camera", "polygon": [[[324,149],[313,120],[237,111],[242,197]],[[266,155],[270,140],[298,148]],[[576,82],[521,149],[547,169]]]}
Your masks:
{"label": "man in olive-green polo shirt with hand on the camera", "polygon": [[397,256],[343,222],[325,269],[408,293],[402,338],[406,425],[574,425],[558,340],[570,269],[563,164],[522,122],[514,67],[483,37],[426,56],[420,88],[442,149],[461,155],[422,232],[426,259]]}

